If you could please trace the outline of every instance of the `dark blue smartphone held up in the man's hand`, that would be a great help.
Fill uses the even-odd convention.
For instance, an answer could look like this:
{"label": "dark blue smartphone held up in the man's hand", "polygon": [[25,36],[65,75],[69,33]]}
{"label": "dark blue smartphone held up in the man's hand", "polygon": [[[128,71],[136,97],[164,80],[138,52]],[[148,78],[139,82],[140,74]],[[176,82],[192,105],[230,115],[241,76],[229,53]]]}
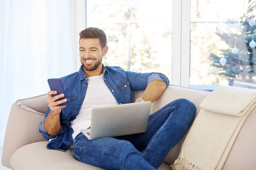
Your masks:
{"label": "dark blue smartphone held up in the man's hand", "polygon": [[[61,97],[60,99],[57,99],[56,101],[67,99],[67,94],[65,93],[64,87],[62,85],[61,79],[48,79],[48,84],[51,89],[51,91],[57,91],[57,94],[52,94],[53,96],[64,94],[64,97]],[[68,106],[68,102],[64,102],[60,104],[59,106]]]}

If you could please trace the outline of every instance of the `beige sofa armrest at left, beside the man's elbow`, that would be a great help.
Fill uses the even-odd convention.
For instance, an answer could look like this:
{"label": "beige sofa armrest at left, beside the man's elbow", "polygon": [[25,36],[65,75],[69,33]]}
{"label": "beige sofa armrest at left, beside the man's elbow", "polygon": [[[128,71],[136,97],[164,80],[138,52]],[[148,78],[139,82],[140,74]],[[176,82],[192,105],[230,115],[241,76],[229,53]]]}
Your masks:
{"label": "beige sofa armrest at left, beside the man's elbow", "polygon": [[[46,102],[43,100],[41,105]],[[44,113],[26,107],[22,100],[17,100],[12,105],[3,143],[2,164],[4,166],[9,167],[8,162],[12,154],[20,147],[46,140],[38,130],[43,118]]]}

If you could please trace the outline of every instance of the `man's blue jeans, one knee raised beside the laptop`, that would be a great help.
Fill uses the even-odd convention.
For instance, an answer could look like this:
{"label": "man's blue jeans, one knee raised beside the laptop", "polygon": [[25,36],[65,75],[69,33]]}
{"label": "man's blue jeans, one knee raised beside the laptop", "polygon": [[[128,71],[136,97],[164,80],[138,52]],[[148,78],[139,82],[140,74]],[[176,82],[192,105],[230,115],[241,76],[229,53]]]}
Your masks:
{"label": "man's blue jeans, one knee raised beside the laptop", "polygon": [[73,157],[110,170],[156,170],[180,141],[194,119],[195,105],[187,99],[170,102],[149,116],[145,133],[73,142]]}

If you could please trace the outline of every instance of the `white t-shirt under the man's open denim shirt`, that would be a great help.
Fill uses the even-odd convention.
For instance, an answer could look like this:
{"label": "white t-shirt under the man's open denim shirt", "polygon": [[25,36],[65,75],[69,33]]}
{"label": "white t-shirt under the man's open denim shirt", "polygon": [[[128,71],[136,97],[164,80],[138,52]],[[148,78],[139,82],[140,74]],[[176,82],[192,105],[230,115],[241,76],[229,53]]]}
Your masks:
{"label": "white t-shirt under the man's open denim shirt", "polygon": [[81,129],[87,129],[90,126],[92,108],[106,105],[117,105],[117,102],[105,84],[103,74],[88,77],[84,102],[76,119],[71,122],[71,127],[74,130],[73,139],[80,133]]}

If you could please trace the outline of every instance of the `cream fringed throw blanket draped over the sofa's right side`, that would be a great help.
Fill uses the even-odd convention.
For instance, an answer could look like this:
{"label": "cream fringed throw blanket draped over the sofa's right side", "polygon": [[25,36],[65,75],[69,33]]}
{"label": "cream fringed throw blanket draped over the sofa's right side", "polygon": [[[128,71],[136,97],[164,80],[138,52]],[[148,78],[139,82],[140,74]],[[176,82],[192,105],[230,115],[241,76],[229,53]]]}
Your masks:
{"label": "cream fringed throw blanket draped over the sofa's right side", "polygon": [[221,86],[212,91],[200,104],[173,170],[221,170],[255,106],[256,90]]}

